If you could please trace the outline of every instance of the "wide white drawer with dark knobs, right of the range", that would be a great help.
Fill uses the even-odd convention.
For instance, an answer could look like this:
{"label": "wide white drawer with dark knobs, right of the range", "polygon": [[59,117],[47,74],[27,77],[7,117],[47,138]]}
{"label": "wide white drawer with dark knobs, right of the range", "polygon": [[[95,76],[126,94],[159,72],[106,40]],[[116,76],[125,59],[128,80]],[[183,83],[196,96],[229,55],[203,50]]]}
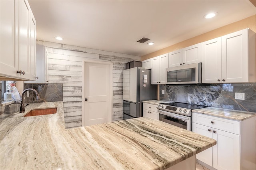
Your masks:
{"label": "wide white drawer with dark knobs, right of the range", "polygon": [[224,130],[234,134],[240,134],[240,122],[219,117],[192,113],[192,122],[212,128]]}

